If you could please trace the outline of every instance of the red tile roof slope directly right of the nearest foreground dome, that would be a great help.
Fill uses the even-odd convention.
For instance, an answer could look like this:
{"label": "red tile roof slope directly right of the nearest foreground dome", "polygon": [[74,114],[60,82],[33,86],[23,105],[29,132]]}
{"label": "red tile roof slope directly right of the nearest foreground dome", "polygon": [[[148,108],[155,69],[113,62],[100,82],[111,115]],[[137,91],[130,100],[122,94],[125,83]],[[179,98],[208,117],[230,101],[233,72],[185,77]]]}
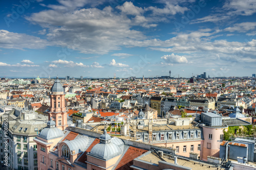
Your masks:
{"label": "red tile roof slope directly right of the nearest foreground dome", "polygon": [[132,169],[130,168],[131,165],[133,165],[133,160],[137,158],[138,156],[144,154],[147,152],[146,150],[129,147],[129,149],[126,151],[126,153],[123,155],[121,161],[118,163],[115,169],[121,170],[121,169]]}

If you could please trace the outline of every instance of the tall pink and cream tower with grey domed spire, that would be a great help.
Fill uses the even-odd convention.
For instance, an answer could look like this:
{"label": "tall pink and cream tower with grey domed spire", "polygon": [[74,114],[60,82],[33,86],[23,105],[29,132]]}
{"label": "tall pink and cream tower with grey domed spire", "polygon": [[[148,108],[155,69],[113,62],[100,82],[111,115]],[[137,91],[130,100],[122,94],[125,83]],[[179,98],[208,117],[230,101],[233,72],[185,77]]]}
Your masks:
{"label": "tall pink and cream tower with grey domed spire", "polygon": [[65,107],[64,89],[58,77],[51,88],[50,98],[49,120],[52,117],[56,123],[56,127],[60,130],[65,130],[68,127],[68,115]]}

